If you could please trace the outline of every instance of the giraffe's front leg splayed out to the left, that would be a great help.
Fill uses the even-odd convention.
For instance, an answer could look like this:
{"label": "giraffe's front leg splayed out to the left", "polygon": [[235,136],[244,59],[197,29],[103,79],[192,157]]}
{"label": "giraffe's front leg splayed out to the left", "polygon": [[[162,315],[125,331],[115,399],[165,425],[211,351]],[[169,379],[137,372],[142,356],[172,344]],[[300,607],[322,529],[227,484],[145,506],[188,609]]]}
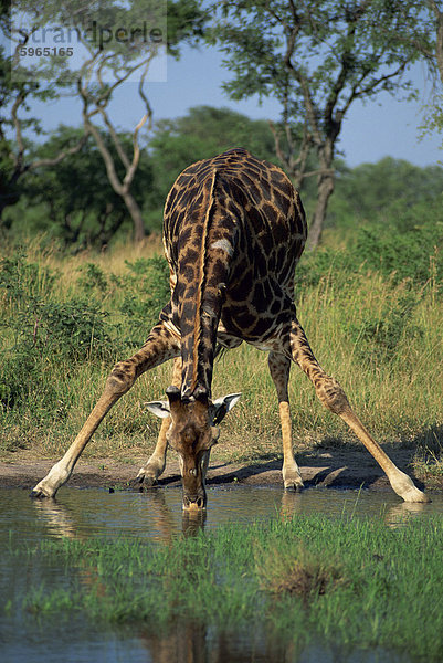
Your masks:
{"label": "giraffe's front leg splayed out to the left", "polygon": [[147,341],[138,352],[130,359],[119,361],[114,367],[106,381],[105,389],[86,423],[65,455],[32,490],[31,497],[54,497],[60,486],[70,478],[75,463],[110,408],[131,388],[143,372],[167,359],[171,359],[179,351],[180,344],[177,338],[160,322],[154,327]]}

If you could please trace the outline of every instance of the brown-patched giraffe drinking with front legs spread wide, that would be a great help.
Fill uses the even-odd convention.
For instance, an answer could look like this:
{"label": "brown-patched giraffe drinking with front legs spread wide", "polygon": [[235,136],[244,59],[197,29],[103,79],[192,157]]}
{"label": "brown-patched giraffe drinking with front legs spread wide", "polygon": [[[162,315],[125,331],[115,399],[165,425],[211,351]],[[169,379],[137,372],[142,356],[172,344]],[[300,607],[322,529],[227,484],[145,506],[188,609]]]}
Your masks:
{"label": "brown-patched giraffe drinking with front legs spread wide", "polygon": [[144,346],[114,367],[77,438],[31,495],[53,497],[115,402],[146,370],[173,359],[167,400],[147,403],[164,421],[156,449],[136,481],[152,485],[171,446],[180,462],[183,508],[203,509],[218,425],[241,396],[212,400],[214,357],[246,341],[268,352],[285,488],[303,488],[288,402],[294,362],[307,375],[320,402],[348,424],[380,464],[393,491],[405,502],[429,502],[366,430],[338,381],[325,372],[310,349],[294,304],[294,270],[306,236],[299,196],[277,166],[233,148],[186,168],[167,197],[164,214],[170,301]]}

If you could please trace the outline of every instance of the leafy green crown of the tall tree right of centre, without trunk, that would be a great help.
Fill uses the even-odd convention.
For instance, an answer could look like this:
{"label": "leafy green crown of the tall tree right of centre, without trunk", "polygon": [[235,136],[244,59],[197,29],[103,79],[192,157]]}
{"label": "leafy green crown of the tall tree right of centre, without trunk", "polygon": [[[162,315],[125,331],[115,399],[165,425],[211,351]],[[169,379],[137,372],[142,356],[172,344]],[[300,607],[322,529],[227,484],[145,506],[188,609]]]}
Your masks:
{"label": "leafy green crown of the tall tree right of centre, without trunk", "polygon": [[[416,44],[433,43],[432,20],[415,0],[361,8],[316,0],[296,12],[288,2],[247,0],[218,3],[212,11],[221,19],[209,38],[221,43],[226,67],[234,74],[225,84],[230,95],[274,96],[282,105],[289,97],[286,108],[294,119],[306,113],[310,128],[314,117],[303,108],[304,82],[309,83],[310,103],[318,110],[330,104],[334,110],[337,102],[342,108],[381,90],[410,91],[408,78],[399,82],[380,76],[380,71],[395,72],[399,65],[403,71],[421,57]],[[415,43],[400,36],[409,30],[414,31]],[[326,118],[323,113],[321,117]]]}

